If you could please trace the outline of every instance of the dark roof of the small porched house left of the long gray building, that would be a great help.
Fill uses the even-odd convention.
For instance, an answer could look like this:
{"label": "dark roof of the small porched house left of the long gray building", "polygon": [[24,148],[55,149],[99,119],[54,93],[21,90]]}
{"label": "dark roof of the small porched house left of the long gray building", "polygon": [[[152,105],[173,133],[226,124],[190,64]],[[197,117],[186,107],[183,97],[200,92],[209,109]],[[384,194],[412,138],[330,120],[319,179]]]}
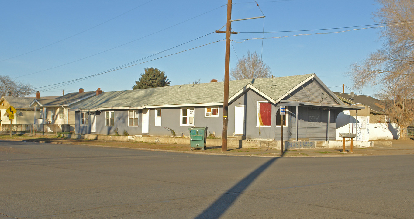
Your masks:
{"label": "dark roof of the small porched house left of the long gray building", "polygon": [[82,93],[69,93],[63,96],[59,96],[55,99],[34,99],[30,106],[42,106],[42,107],[57,107],[57,106],[70,106],[91,96],[96,95],[96,91],[86,91]]}

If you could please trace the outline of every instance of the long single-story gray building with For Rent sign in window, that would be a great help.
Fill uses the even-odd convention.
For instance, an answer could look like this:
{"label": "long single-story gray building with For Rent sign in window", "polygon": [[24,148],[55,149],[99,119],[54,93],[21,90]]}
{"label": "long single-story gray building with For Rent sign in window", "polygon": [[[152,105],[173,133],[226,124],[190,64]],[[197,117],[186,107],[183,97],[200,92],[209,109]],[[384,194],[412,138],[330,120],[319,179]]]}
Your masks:
{"label": "long single-story gray building with For Rent sign in window", "polygon": [[[216,82],[214,82],[216,81]],[[72,106],[75,132],[113,135],[189,135],[208,126],[221,137],[224,82],[108,91]],[[286,106],[284,139],[334,140],[336,117],[346,106],[315,75],[230,81],[228,134],[280,139],[280,106]]]}

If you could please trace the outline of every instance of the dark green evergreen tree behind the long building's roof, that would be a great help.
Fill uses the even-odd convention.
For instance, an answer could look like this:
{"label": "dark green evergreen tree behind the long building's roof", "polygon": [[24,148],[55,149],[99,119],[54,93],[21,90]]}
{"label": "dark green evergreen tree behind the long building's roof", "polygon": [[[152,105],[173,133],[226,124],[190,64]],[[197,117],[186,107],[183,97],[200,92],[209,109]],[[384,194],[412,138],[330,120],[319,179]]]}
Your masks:
{"label": "dark green evergreen tree behind the long building's roof", "polygon": [[135,81],[132,89],[145,89],[152,87],[166,87],[170,86],[170,82],[164,72],[160,72],[158,68],[149,67],[144,69],[144,74],[141,74],[140,80]]}

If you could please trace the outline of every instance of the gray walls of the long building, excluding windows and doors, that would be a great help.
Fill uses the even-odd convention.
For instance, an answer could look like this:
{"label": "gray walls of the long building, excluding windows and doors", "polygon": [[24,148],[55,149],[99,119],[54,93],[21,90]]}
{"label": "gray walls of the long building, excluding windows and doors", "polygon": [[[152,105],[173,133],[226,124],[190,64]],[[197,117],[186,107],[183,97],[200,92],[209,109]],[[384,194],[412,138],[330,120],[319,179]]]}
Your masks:
{"label": "gray walls of the long building, excluding windows and doors", "polygon": [[[314,82],[311,82],[314,83]],[[312,88],[316,87],[315,84],[304,85]],[[314,90],[315,94],[319,94],[319,89],[308,89]],[[296,92],[299,95],[300,92]],[[295,94],[295,95],[296,95]],[[308,95],[309,93],[303,93]],[[295,96],[294,95],[294,96]],[[302,94],[301,94],[302,95]],[[308,95],[309,96],[309,95]],[[312,95],[310,95],[312,96]],[[296,98],[296,96],[295,96]],[[326,99],[325,99],[326,100]],[[327,98],[326,101],[329,99]],[[331,99],[332,100],[332,99]],[[265,101],[265,99],[258,95],[255,91],[249,90],[245,94],[238,97],[236,100],[229,103],[229,114],[228,114],[228,135],[234,135],[234,124],[235,124],[235,107],[245,106],[244,116],[244,134],[246,137],[252,139],[274,139],[280,140],[280,126],[276,126],[276,116],[280,117],[279,108],[275,104],[272,104],[272,125],[270,127],[257,127],[257,102]],[[303,100],[302,100],[303,101]],[[330,103],[335,103],[330,101]],[[214,107],[214,106],[212,106]],[[288,113],[286,116],[287,126],[284,127],[284,139],[296,138],[296,107],[288,107]],[[129,135],[154,135],[154,136],[171,136],[166,127],[173,129],[177,136],[181,136],[181,132],[184,136],[189,136],[189,129],[191,126],[181,126],[180,117],[181,108],[163,108],[161,109],[161,126],[155,126],[155,109],[149,109],[149,132],[142,133],[142,110],[138,111],[138,126],[128,126],[128,110],[116,110],[115,114],[115,125],[105,126],[105,111],[100,113],[96,112],[96,133],[101,135],[114,135],[113,130],[118,128],[120,135],[123,135],[123,130],[128,131]],[[298,108],[298,138],[308,138],[309,140],[327,140],[329,135],[330,140],[335,139],[336,129],[336,117],[339,112],[331,110],[330,120],[330,132],[327,133],[327,118],[328,111],[319,108],[318,110],[306,107]],[[223,108],[219,107],[218,117],[205,117],[205,107],[194,108],[194,127],[208,126],[207,134],[215,132],[216,137],[221,137],[222,124],[223,124]],[[76,113],[76,133],[90,133],[91,132],[91,119],[89,116],[88,125],[80,126],[80,113]]]}

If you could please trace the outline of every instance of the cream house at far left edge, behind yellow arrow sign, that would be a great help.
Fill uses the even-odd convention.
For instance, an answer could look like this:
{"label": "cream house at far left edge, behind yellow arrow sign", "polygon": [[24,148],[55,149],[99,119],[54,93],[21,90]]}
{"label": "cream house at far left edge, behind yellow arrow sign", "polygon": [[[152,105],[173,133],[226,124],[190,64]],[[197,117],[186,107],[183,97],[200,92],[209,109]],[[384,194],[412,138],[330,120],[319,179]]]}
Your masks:
{"label": "cream house at far left edge, behind yellow arrow sign", "polygon": [[12,130],[29,131],[35,115],[34,107],[29,106],[33,100],[34,97],[2,96],[0,98],[0,131],[4,131],[3,127],[10,127],[9,114],[6,112],[10,106],[17,110],[12,120]]}

